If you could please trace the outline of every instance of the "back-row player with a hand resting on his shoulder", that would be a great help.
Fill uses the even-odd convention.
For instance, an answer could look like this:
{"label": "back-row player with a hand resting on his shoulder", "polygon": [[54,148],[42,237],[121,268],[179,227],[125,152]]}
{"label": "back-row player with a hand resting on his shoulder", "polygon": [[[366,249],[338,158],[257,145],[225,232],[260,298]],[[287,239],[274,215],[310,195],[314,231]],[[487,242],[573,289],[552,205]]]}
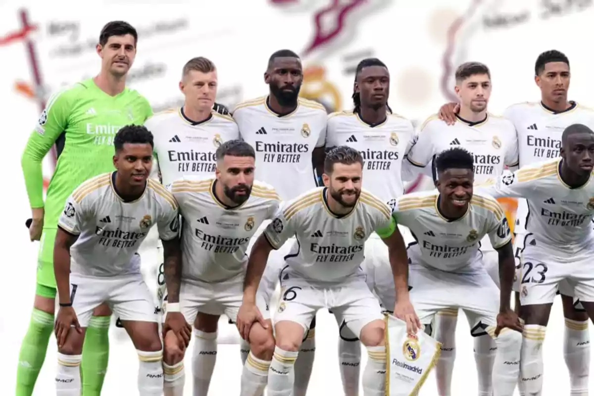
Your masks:
{"label": "back-row player with a hand resting on his shoulder", "polygon": [[[437,116],[431,116],[419,129],[418,140],[407,156],[410,172],[426,170],[441,151],[451,147],[463,147],[472,153],[475,160],[474,178],[479,184],[494,183],[505,166],[517,166],[516,129],[507,119],[487,112],[491,96],[491,73],[487,66],[467,62],[456,70],[456,87],[460,98],[457,122],[447,125]],[[412,166],[410,166],[412,165]],[[432,167],[431,174],[437,180]],[[485,236],[480,243],[483,262],[488,273],[499,283],[497,252],[491,240]],[[444,309],[435,315],[435,339],[441,343],[441,356],[435,366],[437,389],[440,396],[451,394],[451,380],[456,358],[456,324],[458,309]],[[470,319],[470,318],[468,318]],[[472,328],[479,395],[492,394],[492,372],[497,346],[481,328]]]}

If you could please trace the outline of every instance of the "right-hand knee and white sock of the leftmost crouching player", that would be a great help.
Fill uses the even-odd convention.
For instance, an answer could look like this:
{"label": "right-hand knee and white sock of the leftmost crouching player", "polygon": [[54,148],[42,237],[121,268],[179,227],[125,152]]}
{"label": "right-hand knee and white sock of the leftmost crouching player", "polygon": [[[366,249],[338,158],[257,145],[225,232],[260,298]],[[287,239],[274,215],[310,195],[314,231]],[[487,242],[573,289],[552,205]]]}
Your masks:
{"label": "right-hand knee and white sock of the leftmost crouching player", "polygon": [[122,325],[128,332],[138,353],[138,390],[141,395],[163,393],[163,347],[156,322],[125,321]]}

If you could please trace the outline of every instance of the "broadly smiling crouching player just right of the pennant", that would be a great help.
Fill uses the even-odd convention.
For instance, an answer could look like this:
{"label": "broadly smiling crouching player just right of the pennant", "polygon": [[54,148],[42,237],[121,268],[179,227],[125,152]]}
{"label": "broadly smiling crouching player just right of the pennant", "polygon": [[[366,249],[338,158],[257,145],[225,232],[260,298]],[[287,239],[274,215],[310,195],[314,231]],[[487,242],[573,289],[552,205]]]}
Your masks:
{"label": "broadly smiling crouching player just right of the pennant", "polygon": [[[497,344],[492,395],[511,396],[522,345],[522,325],[510,308],[514,254],[500,204],[489,195],[473,194],[475,167],[476,156],[463,148],[441,152],[435,160],[437,192],[403,195],[393,216],[417,241],[407,249],[408,286],[421,323],[430,324],[444,308],[462,309],[472,329],[486,332]],[[479,251],[484,235],[498,254],[500,289]]]}

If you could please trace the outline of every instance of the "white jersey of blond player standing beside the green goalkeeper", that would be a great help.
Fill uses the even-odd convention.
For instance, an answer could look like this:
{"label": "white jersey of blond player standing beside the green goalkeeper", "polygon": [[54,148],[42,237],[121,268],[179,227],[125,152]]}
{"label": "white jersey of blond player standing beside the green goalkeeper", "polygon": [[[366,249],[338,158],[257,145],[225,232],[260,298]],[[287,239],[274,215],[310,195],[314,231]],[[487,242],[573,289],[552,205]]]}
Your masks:
{"label": "white jersey of blond player standing beside the green goalkeeper", "polygon": [[193,122],[181,108],[166,110],[147,119],[144,126],[154,137],[156,161],[151,177],[160,172],[165,186],[182,175],[213,175],[217,148],[239,139],[235,121],[215,111],[206,120]]}

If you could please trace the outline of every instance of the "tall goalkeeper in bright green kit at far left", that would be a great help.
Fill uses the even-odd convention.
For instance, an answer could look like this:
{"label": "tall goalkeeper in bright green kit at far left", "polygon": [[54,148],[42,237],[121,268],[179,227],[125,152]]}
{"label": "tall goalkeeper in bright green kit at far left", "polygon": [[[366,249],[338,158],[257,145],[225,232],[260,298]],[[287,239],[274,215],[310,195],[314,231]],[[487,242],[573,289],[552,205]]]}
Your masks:
{"label": "tall goalkeeper in bright green kit at far left", "polygon": [[[18,357],[17,396],[33,393],[53,330],[53,243],[65,201],[84,180],[114,169],[113,138],[119,128],[142,125],[152,115],[149,102],[125,86],[137,39],[136,30],[128,23],[106,24],[97,44],[102,59],[99,75],[50,97],[24,150],[21,165],[33,215],[29,233],[40,246],[33,314]],[[53,144],[58,163],[43,202],[42,160]],[[84,396],[100,394],[109,357],[111,312],[100,306],[93,315],[83,347]]]}

